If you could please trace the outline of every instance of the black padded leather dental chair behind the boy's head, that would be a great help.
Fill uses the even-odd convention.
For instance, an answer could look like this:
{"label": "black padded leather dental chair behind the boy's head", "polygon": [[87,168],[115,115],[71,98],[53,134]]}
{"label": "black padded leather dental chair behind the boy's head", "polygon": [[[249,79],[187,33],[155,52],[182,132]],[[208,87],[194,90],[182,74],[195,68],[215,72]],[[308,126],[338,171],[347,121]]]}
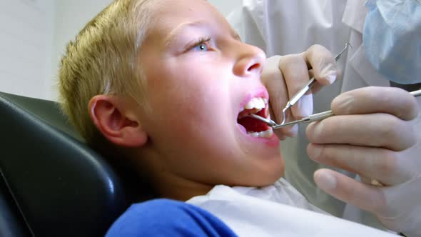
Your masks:
{"label": "black padded leather dental chair behind the boy's head", "polygon": [[151,196],[86,146],[56,102],[0,92],[0,129],[0,236],[103,236]]}

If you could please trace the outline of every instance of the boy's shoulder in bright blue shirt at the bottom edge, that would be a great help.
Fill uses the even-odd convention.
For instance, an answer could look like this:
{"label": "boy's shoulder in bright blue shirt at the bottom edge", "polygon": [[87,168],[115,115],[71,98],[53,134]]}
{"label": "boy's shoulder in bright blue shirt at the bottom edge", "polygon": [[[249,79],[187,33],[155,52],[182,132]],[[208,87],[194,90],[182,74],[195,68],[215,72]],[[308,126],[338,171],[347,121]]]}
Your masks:
{"label": "boy's shoulder in bright blue shirt at the bottom edge", "polygon": [[133,204],[106,236],[236,236],[208,211],[181,201],[156,199]]}

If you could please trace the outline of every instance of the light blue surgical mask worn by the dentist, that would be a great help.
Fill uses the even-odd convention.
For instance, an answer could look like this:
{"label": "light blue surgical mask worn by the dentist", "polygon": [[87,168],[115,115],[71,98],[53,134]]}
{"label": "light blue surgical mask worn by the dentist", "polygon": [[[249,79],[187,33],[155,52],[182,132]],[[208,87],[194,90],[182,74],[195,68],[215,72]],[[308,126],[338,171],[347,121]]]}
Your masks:
{"label": "light blue surgical mask worn by the dentist", "polygon": [[390,81],[421,82],[421,0],[368,0],[365,6],[368,61]]}

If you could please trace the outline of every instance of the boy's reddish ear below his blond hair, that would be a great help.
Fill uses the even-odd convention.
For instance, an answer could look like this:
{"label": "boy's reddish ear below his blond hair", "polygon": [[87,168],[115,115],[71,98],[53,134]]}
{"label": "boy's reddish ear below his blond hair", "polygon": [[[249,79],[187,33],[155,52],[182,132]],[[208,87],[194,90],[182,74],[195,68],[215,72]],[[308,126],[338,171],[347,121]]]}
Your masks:
{"label": "boy's reddish ear below his blond hair", "polygon": [[89,101],[89,116],[102,135],[118,146],[143,146],[148,134],[130,110],[130,102],[114,96],[98,95]]}

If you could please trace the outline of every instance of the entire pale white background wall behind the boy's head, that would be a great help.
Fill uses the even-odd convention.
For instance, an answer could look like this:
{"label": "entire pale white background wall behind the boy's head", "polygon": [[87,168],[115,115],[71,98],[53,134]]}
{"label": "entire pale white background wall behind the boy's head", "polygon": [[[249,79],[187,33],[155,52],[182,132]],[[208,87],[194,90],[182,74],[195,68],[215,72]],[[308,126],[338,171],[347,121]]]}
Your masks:
{"label": "entire pale white background wall behind the boy's head", "polygon": [[[112,0],[0,0],[0,91],[55,100],[66,44]],[[208,0],[224,15],[241,0]]]}

